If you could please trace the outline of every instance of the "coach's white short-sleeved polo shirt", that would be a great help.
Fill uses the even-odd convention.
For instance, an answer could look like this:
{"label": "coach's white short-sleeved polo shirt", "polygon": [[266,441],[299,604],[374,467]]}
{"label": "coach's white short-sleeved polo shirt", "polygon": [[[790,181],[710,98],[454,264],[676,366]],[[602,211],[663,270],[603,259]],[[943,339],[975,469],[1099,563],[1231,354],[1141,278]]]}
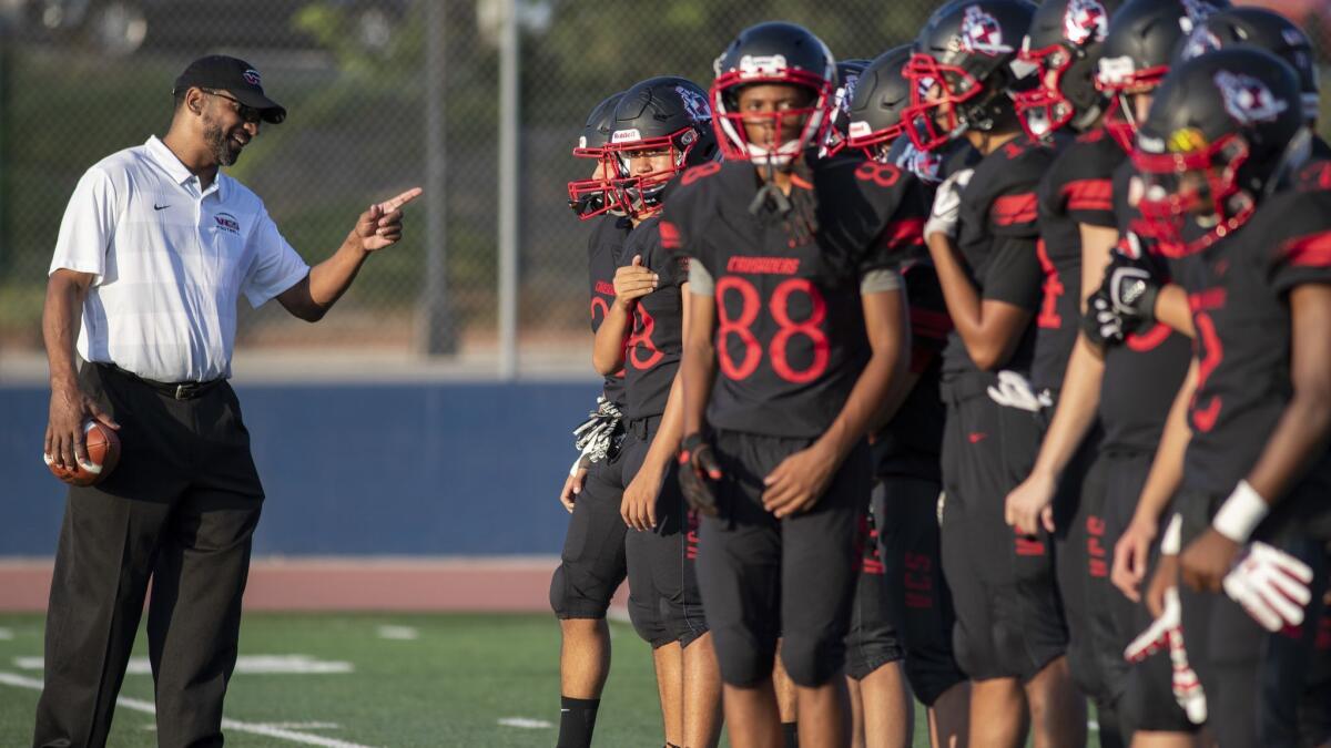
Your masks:
{"label": "coach's white short-sleeved polo shirt", "polygon": [[96,276],[79,354],[158,382],[229,377],[241,293],[260,306],[310,268],[264,201],[218,172],[198,177],[157,137],[79,180],[51,273]]}

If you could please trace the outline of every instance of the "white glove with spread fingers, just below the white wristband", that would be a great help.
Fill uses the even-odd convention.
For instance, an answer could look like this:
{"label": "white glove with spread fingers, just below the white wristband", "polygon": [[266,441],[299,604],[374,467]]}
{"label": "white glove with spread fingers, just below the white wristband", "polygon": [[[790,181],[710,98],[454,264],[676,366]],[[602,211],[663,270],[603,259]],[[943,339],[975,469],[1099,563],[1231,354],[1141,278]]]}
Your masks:
{"label": "white glove with spread fingers, just below the white wristband", "polygon": [[1262,628],[1275,632],[1303,623],[1303,610],[1312,600],[1308,591],[1311,582],[1308,564],[1266,543],[1254,542],[1225,575],[1225,594],[1243,606]]}

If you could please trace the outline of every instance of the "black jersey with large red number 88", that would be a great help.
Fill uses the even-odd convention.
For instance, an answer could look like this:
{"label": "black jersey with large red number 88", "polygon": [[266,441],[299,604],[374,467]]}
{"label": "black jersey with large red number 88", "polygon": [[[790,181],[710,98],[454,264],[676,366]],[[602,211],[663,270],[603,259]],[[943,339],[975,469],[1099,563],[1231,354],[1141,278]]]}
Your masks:
{"label": "black jersey with large red number 88", "polygon": [[715,427],[823,434],[869,358],[861,278],[920,249],[914,176],[861,153],[807,158],[801,173],[784,218],[749,212],[760,184],[747,161],[685,172],[666,204],[666,246],[716,283]]}

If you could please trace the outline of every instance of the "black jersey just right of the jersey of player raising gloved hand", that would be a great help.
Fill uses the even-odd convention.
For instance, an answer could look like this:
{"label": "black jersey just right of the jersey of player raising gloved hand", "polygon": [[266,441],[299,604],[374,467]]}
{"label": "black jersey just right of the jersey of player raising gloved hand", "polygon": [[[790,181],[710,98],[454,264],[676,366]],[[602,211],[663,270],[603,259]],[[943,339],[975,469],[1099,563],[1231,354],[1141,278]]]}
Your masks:
{"label": "black jersey just right of the jersey of player raising gloved hand", "polygon": [[1117,225],[1114,169],[1126,160],[1127,154],[1103,128],[1094,129],[1065,148],[1040,182],[1036,253],[1045,281],[1030,369],[1030,383],[1037,390],[1062,387],[1081,330],[1081,224],[1110,229]]}

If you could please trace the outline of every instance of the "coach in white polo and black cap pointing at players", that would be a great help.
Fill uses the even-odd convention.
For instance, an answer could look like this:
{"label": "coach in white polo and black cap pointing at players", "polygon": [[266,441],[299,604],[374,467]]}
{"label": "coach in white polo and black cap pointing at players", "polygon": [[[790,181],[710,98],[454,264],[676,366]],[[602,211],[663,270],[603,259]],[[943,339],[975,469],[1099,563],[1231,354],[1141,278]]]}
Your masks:
{"label": "coach in white polo and black cap pointing at players", "polygon": [[196,60],[176,80],[166,136],[93,165],[65,209],[43,314],[44,451],[57,466],[84,462],[81,426],[96,418],[118,429],[122,453],[65,502],[36,745],[106,743],[149,580],[158,745],[222,744],[264,503],[226,382],[238,297],[318,321],[370,254],[402,237],[402,206],[421,194],[371,205],[310,268],[264,201],[220,170],[285,117],[249,64]]}

